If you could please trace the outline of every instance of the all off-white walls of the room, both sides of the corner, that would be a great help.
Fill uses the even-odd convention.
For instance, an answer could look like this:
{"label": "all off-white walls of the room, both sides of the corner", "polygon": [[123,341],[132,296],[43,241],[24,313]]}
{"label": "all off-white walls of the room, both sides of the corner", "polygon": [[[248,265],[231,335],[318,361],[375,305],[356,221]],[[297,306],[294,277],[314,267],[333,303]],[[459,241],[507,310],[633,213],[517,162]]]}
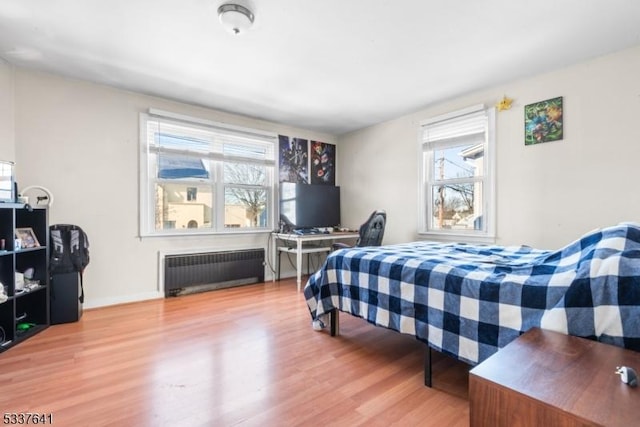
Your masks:
{"label": "all off-white walls of the room, both sides of the corner", "polygon": [[[419,122],[506,94],[515,102],[497,115],[498,243],[556,248],[595,227],[640,221],[638,75],[640,47],[335,138],[0,63],[0,158],[16,161],[20,187],[53,191],[52,224],[89,234],[85,307],[93,307],[159,296],[159,251],[267,244],[266,234],[137,237],[139,112],[155,107],[337,143],[343,225],[386,209],[385,243],[396,243],[417,239]],[[564,97],[564,140],[525,147],[524,106],[556,96]]]}

